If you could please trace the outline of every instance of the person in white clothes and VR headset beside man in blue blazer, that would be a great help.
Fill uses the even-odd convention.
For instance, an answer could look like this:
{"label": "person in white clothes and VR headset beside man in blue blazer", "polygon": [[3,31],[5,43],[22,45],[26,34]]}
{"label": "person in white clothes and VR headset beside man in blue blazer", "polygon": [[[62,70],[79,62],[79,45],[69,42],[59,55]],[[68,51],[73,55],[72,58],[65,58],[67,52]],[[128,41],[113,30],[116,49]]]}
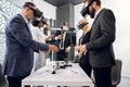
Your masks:
{"label": "person in white clothes and VR headset beside man in blue blazer", "polygon": [[[53,35],[47,36],[43,34],[43,29],[49,29],[49,25],[47,24],[42,12],[40,13],[39,17],[36,17],[31,22],[34,28],[34,39],[39,42],[46,44],[46,41],[52,39]],[[43,27],[46,26],[46,27]],[[44,51],[39,51],[38,53],[35,52],[35,64],[34,64],[34,71],[37,71],[38,69],[46,65],[46,52]]]}

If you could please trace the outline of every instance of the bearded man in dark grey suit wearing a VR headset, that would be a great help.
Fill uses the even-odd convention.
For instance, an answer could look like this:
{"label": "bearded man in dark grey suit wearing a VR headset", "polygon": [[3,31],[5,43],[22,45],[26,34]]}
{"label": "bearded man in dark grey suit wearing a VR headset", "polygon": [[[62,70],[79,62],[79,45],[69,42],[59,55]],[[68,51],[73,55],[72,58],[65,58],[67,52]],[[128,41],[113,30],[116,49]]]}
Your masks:
{"label": "bearded man in dark grey suit wearing a VR headset", "polygon": [[112,87],[110,70],[115,64],[113,42],[115,41],[115,16],[108,9],[101,8],[101,0],[86,0],[81,14],[94,18],[90,42],[80,47],[80,53],[89,51],[96,87]]}

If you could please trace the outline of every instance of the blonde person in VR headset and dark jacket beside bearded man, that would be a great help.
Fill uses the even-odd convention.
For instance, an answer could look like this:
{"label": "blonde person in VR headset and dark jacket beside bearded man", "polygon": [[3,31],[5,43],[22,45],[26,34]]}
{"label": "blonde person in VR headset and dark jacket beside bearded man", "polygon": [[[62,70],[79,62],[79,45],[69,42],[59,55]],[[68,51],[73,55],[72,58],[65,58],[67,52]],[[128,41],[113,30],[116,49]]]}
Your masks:
{"label": "blonde person in VR headset and dark jacket beside bearded man", "polygon": [[[79,46],[75,47],[75,50],[77,50],[77,51],[79,51],[79,48],[81,45],[84,45],[90,41],[91,29],[88,24],[89,23],[86,18],[80,20],[78,23],[78,29],[82,29],[83,34],[79,38]],[[79,65],[82,67],[82,70],[86,72],[86,74],[91,78],[92,66],[89,63],[89,52],[87,52],[83,55],[79,51],[78,58],[80,59]]]}

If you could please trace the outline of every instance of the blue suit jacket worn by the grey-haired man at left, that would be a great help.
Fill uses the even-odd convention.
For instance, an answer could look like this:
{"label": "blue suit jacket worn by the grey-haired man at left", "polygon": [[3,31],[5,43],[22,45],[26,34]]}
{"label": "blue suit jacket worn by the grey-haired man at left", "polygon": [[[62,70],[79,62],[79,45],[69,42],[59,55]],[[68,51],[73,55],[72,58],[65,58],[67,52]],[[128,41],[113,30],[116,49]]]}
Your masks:
{"label": "blue suit jacket worn by the grey-haired man at left", "polygon": [[5,25],[5,57],[2,73],[8,76],[24,76],[31,72],[34,49],[49,50],[49,46],[32,40],[29,27],[17,14]]}

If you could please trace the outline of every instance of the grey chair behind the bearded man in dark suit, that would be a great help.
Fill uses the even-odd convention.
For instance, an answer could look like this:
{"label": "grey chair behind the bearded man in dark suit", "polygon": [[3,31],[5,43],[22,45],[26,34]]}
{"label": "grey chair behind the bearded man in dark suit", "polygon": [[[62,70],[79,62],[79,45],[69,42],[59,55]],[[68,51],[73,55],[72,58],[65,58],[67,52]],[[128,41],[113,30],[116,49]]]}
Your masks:
{"label": "grey chair behind the bearded man in dark suit", "polygon": [[116,60],[116,65],[114,65],[112,67],[112,85],[113,85],[113,87],[117,87],[117,85],[121,80],[121,66],[122,66],[122,61]]}

